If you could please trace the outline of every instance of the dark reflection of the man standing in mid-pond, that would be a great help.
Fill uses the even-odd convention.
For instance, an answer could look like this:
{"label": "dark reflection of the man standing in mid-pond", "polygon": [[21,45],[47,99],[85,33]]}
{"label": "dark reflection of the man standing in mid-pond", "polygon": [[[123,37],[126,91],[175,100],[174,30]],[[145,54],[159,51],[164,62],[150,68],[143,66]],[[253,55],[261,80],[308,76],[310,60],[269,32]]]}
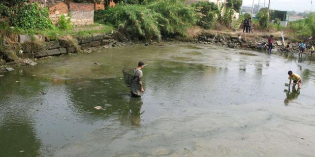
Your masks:
{"label": "dark reflection of the man standing in mid-pond", "polygon": [[140,97],[130,97],[126,117],[123,118],[123,123],[127,126],[140,126],[140,116],[144,113],[141,112],[142,100]]}

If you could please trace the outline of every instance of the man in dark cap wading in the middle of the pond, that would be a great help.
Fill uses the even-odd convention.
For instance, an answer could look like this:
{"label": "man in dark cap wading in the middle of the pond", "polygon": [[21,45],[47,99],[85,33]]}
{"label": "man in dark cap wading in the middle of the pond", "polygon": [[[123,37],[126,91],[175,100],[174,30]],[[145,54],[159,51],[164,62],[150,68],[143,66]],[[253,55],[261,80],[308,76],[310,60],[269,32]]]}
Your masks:
{"label": "man in dark cap wading in the middle of the pond", "polygon": [[131,80],[130,90],[132,96],[140,97],[141,94],[144,92],[142,86],[142,70],[144,68],[144,63],[139,62],[138,67],[133,69],[133,78]]}

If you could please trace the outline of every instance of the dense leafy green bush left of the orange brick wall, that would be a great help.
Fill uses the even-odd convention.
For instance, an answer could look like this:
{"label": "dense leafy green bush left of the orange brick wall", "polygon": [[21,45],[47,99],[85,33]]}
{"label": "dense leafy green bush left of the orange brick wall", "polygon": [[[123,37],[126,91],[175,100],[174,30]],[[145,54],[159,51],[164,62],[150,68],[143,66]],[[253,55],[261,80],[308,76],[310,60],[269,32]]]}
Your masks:
{"label": "dense leafy green bush left of the orange brick wall", "polygon": [[25,3],[21,7],[15,7],[16,16],[12,18],[13,24],[21,29],[52,29],[53,23],[49,19],[48,9],[39,9],[37,3]]}

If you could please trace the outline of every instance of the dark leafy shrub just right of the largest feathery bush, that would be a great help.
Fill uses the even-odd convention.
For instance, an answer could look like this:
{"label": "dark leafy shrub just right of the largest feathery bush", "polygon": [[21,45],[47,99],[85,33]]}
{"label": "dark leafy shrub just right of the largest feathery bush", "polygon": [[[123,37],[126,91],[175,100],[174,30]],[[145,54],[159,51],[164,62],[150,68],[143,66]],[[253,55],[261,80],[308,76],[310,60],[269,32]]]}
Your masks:
{"label": "dark leafy shrub just right of the largest feathery bush", "polygon": [[191,6],[196,8],[198,13],[202,14],[202,18],[197,24],[205,29],[210,29],[215,20],[215,13],[218,12],[218,5],[213,2],[199,1]]}

